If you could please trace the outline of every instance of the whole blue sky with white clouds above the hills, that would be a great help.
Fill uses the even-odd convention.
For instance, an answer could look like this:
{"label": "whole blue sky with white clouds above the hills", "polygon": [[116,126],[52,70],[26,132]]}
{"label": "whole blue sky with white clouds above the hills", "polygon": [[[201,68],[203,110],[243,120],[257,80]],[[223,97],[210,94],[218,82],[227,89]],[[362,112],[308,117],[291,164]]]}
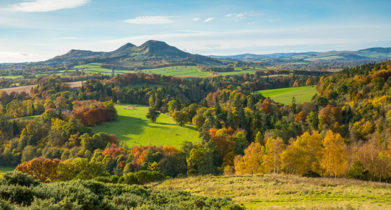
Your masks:
{"label": "whole blue sky with white clouds above the hills", "polygon": [[391,0],[0,0],[0,63],[167,42],[202,55],[391,47]]}

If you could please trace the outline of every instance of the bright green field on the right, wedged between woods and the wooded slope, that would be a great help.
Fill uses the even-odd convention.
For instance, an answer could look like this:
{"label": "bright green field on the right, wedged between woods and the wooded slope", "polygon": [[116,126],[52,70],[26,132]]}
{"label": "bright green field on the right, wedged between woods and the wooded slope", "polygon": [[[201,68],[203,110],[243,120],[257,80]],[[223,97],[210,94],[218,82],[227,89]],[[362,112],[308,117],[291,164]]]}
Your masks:
{"label": "bright green field on the right, wedged between woods and the wooded slope", "polygon": [[286,87],[280,89],[258,90],[264,97],[270,97],[275,102],[289,105],[292,103],[292,98],[295,97],[296,103],[309,102],[312,96],[317,93],[316,86],[302,86],[302,87]]}

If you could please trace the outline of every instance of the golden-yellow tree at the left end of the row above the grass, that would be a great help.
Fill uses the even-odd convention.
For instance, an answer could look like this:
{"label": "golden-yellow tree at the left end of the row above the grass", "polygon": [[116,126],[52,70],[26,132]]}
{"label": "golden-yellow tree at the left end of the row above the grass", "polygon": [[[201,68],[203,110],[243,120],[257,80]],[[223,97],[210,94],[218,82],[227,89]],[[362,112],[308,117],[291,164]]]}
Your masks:
{"label": "golden-yellow tree at the left end of the row above the grass", "polygon": [[235,173],[239,175],[261,173],[264,147],[260,143],[251,143],[244,149],[244,155],[235,157]]}

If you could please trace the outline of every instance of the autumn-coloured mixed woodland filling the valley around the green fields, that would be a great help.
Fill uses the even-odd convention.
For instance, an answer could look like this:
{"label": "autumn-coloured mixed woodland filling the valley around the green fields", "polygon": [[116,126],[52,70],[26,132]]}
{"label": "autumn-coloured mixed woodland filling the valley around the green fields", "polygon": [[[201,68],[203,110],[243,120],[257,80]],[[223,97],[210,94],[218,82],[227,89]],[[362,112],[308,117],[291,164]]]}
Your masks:
{"label": "autumn-coloured mixed woodland filling the valley around the green fields", "polygon": [[[318,94],[303,104],[293,99],[283,105],[255,92],[304,85],[317,85]],[[4,173],[0,198],[14,190],[31,196],[23,201],[28,203],[17,197],[0,199],[0,205],[11,209],[13,205],[41,203],[61,209],[65,198],[75,205],[87,205],[61,196],[46,199],[54,192],[34,194],[70,183],[83,190],[98,185],[115,190],[117,194],[85,191],[88,196],[102,198],[94,207],[126,209],[129,206],[112,203],[121,199],[125,185],[173,177],[295,174],[391,182],[390,61],[322,76],[178,78],[128,73],[89,79],[78,89],[69,88],[56,76],[40,79],[29,94],[0,91],[0,102],[0,162],[18,165],[15,172]],[[168,114],[178,126],[192,124],[201,141],[185,142],[179,148],[128,147],[113,134],[93,133],[91,126],[116,119],[114,105],[120,103],[149,105],[147,118],[151,122]],[[26,191],[26,185],[10,184],[14,176],[23,177],[34,187]],[[156,196],[164,193],[143,190]],[[134,199],[150,199],[140,196]],[[145,202],[164,206],[183,201]],[[231,205],[219,200],[202,203],[199,208],[223,205],[221,202]]]}

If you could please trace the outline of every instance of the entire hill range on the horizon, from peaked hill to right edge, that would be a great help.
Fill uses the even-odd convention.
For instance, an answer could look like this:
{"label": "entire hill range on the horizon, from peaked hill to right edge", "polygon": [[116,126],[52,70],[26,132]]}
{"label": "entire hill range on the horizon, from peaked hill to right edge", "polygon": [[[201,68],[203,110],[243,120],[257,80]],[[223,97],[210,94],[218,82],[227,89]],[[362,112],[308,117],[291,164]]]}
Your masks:
{"label": "entire hill range on the horizon, from peaked hill to right edge", "polygon": [[[64,63],[103,63],[105,68],[149,69],[172,65],[226,65],[237,60],[263,62],[267,65],[285,63],[312,63],[314,61],[363,63],[391,58],[391,47],[368,48],[358,51],[329,51],[303,53],[274,53],[266,55],[241,54],[233,56],[203,56],[184,52],[166,42],[147,41],[140,46],[127,43],[111,52],[69,50],[64,55],[36,64],[63,65]],[[227,61],[230,60],[230,61]],[[357,62],[358,61],[358,62]],[[31,63],[34,65],[35,63]],[[266,65],[265,64],[265,65]]]}

